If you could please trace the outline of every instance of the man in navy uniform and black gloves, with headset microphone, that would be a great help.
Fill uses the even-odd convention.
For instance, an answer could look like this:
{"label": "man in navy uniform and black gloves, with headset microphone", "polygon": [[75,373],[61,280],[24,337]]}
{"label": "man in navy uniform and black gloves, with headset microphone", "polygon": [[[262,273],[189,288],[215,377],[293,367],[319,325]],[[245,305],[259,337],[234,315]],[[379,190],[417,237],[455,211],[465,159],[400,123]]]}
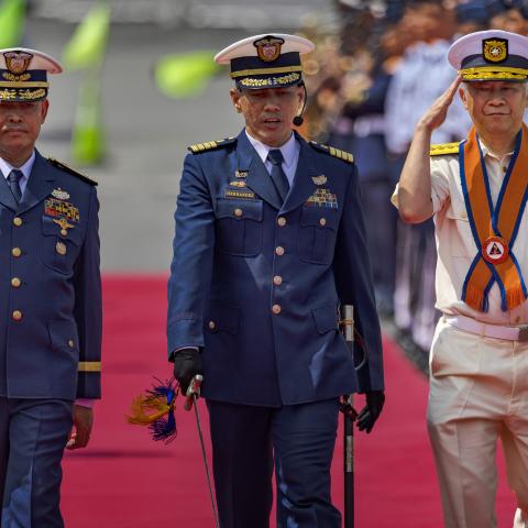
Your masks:
{"label": "man in navy uniform and black gloves, with headset microphone", "polygon": [[[256,35],[216,56],[245,129],[193,145],[168,283],[168,354],[185,392],[204,373],[222,528],[338,528],[330,463],[339,398],[383,400],[376,316],[352,155],[293,132],[306,38]],[[354,369],[338,308],[353,305],[367,361]]]}

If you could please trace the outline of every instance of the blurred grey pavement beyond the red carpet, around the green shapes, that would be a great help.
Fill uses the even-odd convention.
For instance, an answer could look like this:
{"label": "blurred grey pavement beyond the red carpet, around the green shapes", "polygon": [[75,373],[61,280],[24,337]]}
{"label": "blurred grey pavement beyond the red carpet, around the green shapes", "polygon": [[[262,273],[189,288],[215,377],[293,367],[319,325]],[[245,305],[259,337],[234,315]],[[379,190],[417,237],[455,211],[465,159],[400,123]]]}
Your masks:
{"label": "blurred grey pavement beyond the red carpet, around the green shapes", "polygon": [[[29,47],[59,56],[72,25],[30,21]],[[99,180],[105,271],[166,271],[170,262],[173,213],[186,146],[233,135],[242,127],[230,107],[228,75],[213,79],[199,99],[176,101],[161,95],[152,67],[167,53],[221,50],[241,31],[164,30],[155,25],[112,28],[105,65],[103,113],[108,160],[85,172]],[[52,78],[51,113],[38,147],[69,160],[69,135],[78,74]]]}

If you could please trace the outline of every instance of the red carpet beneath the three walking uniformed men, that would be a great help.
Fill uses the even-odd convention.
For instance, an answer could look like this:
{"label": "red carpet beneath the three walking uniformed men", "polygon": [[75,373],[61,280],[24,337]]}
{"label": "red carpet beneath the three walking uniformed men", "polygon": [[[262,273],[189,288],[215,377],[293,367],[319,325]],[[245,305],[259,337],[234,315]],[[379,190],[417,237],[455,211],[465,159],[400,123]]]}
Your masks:
{"label": "red carpet beneath the three walking uniformed men", "polygon": [[[105,278],[103,399],[96,406],[90,446],[65,459],[62,508],[68,528],[213,527],[194,415],[177,409],[179,433],[168,447],[124,420],[130,402],[152,375],[170,374],[165,284],[158,276]],[[440,528],[440,495],[425,425],[426,380],[388,340],[385,369],[384,414],[373,433],[355,437],[356,528]],[[200,410],[207,436],[204,405]],[[514,497],[504,471],[501,481],[498,526],[509,527]],[[333,491],[341,507],[341,433]]]}

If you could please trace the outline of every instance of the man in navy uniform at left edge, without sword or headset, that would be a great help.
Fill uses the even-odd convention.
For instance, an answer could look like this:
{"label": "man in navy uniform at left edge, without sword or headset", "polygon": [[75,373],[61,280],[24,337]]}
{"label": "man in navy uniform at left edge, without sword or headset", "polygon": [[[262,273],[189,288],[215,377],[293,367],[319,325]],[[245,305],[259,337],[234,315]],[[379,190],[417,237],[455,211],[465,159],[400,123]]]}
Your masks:
{"label": "man in navy uniform at left edge, without sword or headset", "polygon": [[64,449],[87,444],[100,397],[95,183],[34,147],[47,74],[61,72],[43,53],[0,50],[2,528],[64,526]]}

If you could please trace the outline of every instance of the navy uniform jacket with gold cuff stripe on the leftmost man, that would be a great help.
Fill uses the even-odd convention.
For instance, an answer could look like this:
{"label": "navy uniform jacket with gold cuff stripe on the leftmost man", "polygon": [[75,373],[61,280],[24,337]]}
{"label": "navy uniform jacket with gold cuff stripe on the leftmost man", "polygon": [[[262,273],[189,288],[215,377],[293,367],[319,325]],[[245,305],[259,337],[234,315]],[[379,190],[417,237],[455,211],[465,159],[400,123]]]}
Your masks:
{"label": "navy uniform jacket with gold cuff stripe on the leftmost man", "polygon": [[0,396],[100,396],[98,210],[94,185],[38,153],[20,205],[0,175]]}

